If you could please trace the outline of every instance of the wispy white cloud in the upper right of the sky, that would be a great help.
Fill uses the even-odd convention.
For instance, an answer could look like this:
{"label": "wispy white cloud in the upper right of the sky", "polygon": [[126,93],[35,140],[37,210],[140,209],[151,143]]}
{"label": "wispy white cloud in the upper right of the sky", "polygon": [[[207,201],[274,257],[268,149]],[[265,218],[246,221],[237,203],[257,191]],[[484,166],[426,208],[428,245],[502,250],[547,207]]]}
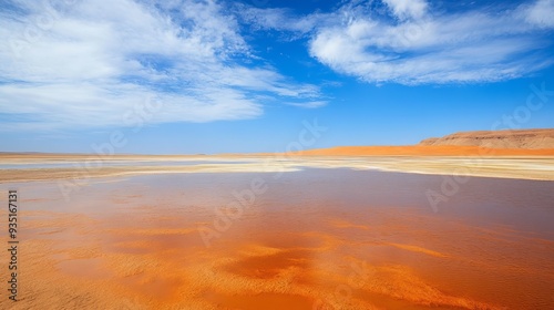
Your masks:
{"label": "wispy white cloud in the upper right of the sky", "polygon": [[[309,52],[337,72],[370,83],[468,83],[514,79],[552,63],[552,44],[530,8],[490,13],[425,13],[420,1],[386,1],[396,17],[342,8],[340,21],[314,30]],[[544,9],[546,10],[546,9]],[[525,14],[523,14],[524,12]],[[522,18],[522,16],[524,18]],[[552,21],[552,16],[548,16]],[[543,51],[543,54],[541,54]]]}

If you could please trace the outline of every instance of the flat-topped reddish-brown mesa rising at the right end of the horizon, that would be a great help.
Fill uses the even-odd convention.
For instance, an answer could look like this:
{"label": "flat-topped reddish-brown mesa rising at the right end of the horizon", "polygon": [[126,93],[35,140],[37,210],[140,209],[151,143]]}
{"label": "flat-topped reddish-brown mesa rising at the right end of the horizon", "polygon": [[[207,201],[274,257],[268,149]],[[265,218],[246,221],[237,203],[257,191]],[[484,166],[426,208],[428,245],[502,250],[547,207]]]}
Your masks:
{"label": "flat-topped reddish-brown mesa rising at the right end of the horizon", "polygon": [[525,149],[554,148],[554,128],[463,132],[443,137],[427,138],[421,141],[419,145],[458,145]]}

